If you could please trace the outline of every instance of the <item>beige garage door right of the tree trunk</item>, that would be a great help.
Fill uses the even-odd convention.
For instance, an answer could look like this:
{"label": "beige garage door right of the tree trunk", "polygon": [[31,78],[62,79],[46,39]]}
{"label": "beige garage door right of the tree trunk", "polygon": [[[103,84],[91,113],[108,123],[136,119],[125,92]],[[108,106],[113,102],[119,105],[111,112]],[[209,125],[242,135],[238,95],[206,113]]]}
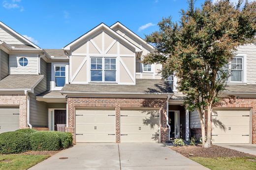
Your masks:
{"label": "beige garage door right of the tree trunk", "polygon": [[214,109],[212,114],[213,144],[249,144],[249,109]]}

